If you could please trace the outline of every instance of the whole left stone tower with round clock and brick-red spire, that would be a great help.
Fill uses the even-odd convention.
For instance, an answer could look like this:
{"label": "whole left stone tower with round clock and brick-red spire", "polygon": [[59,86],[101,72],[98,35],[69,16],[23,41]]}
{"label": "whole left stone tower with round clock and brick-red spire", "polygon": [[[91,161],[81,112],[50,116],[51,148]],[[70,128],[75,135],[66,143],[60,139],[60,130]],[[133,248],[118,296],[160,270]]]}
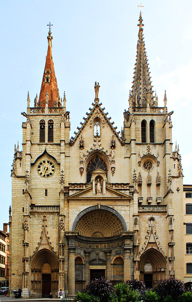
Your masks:
{"label": "whole left stone tower with round clock and brick-red spire", "polygon": [[[64,288],[64,186],[69,182],[69,112],[59,96],[49,28],[39,99],[22,124],[23,150],[15,147],[12,176],[10,288],[22,297],[56,297]],[[67,168],[66,168],[67,167]],[[17,247],[14,245],[17,243]],[[47,288],[46,288],[47,287]]]}

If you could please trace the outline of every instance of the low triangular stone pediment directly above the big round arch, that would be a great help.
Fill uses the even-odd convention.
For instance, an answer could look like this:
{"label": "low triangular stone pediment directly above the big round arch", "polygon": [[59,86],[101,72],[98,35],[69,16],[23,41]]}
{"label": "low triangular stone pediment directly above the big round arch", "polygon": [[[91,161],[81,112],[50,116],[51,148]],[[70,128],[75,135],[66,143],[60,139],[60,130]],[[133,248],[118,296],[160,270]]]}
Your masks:
{"label": "low triangular stone pediment directly above the big round arch", "polygon": [[97,201],[102,200],[102,199],[106,199],[106,200],[126,200],[126,201],[130,201],[131,200],[131,196],[118,191],[117,189],[113,189],[111,188],[111,186],[106,184],[106,188],[105,188],[105,194],[93,194],[93,184],[89,183],[87,184],[88,187],[85,189],[79,189],[81,184],[75,184],[73,189],[69,189],[69,196],[67,197],[67,199],[70,200],[77,200],[77,199],[81,199],[82,200],[93,200],[96,199]]}

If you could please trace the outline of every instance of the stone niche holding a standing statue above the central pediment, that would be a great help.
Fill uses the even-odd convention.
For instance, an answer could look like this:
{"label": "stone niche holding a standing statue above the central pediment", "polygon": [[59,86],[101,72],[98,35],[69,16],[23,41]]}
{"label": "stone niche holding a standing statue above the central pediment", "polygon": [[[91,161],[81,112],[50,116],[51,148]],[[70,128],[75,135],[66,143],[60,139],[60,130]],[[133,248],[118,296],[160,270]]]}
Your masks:
{"label": "stone niche holding a standing statue above the central pediment", "polygon": [[96,169],[92,172],[91,181],[93,182],[93,194],[97,197],[105,195],[106,180],[107,176],[105,171]]}

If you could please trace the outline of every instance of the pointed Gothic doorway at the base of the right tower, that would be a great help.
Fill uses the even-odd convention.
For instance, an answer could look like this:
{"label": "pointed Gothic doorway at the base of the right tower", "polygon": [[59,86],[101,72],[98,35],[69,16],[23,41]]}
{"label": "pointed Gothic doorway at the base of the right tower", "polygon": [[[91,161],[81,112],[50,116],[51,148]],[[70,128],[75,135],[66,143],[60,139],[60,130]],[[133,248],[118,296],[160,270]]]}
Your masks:
{"label": "pointed Gothic doorway at the base of the right tower", "polygon": [[166,259],[157,249],[147,249],[140,256],[139,263],[140,279],[145,282],[146,287],[152,288],[165,278]]}

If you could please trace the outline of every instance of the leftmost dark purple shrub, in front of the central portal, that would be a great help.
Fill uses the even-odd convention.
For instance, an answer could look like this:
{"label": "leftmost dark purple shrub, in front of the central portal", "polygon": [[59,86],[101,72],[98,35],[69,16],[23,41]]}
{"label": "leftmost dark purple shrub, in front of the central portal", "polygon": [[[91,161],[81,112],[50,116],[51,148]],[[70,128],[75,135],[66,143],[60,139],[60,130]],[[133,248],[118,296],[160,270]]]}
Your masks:
{"label": "leftmost dark purple shrub, in front of the central portal", "polygon": [[99,297],[101,302],[107,302],[113,291],[114,288],[112,283],[108,280],[105,280],[103,277],[93,279],[83,289],[83,293],[88,293]]}

